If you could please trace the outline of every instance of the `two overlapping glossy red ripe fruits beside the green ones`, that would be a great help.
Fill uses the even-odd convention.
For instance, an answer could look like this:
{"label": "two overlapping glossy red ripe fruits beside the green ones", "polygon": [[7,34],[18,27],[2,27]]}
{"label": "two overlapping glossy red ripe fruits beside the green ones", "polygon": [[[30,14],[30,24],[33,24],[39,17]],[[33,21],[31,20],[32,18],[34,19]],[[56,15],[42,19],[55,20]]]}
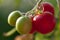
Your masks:
{"label": "two overlapping glossy red ripe fruits beside the green ones", "polygon": [[37,10],[38,12],[42,10],[42,13],[36,12],[37,15],[33,17],[32,31],[36,31],[42,34],[52,32],[56,25],[54,7],[52,4],[48,2],[42,2],[41,4],[38,4]]}

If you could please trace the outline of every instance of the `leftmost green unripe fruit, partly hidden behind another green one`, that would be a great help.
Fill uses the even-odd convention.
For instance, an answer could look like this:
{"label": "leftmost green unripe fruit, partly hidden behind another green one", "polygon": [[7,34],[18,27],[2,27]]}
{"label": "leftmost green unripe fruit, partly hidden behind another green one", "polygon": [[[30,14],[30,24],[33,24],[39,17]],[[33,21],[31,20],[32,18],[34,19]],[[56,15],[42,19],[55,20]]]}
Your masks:
{"label": "leftmost green unripe fruit, partly hidden behind another green one", "polygon": [[9,14],[8,16],[8,23],[11,25],[11,26],[15,26],[15,23],[16,23],[16,20],[17,18],[19,18],[21,16],[21,12],[20,11],[13,11]]}

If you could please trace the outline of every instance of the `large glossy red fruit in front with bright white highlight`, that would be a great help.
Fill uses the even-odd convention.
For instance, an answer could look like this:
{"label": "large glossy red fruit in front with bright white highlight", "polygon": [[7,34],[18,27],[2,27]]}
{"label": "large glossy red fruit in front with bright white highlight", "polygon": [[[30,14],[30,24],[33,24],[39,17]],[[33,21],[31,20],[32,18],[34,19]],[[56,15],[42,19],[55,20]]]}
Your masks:
{"label": "large glossy red fruit in front with bright white highlight", "polygon": [[42,34],[52,32],[56,24],[55,17],[49,12],[36,15],[33,18],[33,21],[36,27],[36,31]]}

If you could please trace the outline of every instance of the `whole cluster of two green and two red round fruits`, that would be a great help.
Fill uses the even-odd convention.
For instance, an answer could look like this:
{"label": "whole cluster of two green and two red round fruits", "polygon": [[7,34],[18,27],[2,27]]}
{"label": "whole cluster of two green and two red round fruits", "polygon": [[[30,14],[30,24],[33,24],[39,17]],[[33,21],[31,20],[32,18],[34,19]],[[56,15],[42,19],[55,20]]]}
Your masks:
{"label": "whole cluster of two green and two red round fruits", "polygon": [[23,15],[19,11],[13,11],[8,16],[8,23],[15,26],[16,31],[20,34],[33,34],[35,32],[47,34],[54,30],[56,19],[52,4],[41,2],[33,12],[33,14],[29,12]]}

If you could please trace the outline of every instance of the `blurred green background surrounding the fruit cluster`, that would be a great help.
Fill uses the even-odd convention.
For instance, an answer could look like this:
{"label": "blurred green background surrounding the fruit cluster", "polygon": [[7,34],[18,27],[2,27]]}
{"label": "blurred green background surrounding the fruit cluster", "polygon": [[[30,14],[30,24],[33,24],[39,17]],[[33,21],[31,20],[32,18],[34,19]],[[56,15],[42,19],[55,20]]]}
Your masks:
{"label": "blurred green background surrounding the fruit cluster", "polygon": [[[4,32],[8,32],[11,30],[12,26],[10,26],[7,22],[8,15],[10,12],[19,10],[21,12],[27,12],[31,10],[37,3],[38,0],[0,0],[0,40],[14,40],[14,38],[19,35],[18,32],[15,32],[13,35],[9,37],[3,36]],[[54,33],[54,40],[60,40],[60,10],[57,7],[56,0],[44,0],[52,3],[55,7],[55,17],[57,19],[56,30]],[[35,40],[51,40],[52,34],[42,35],[37,33],[35,36]],[[45,37],[46,38],[45,38]]]}

